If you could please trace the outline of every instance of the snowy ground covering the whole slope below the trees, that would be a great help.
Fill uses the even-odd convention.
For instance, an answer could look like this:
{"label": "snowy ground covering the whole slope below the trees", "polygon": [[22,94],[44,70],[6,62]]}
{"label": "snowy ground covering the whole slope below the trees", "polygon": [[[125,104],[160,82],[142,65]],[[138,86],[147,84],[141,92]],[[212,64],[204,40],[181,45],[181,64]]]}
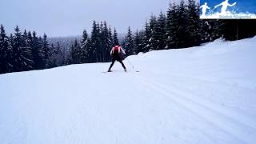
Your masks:
{"label": "snowy ground covering the whole slope below the trees", "polygon": [[[0,75],[1,144],[255,143],[256,38]],[[140,72],[136,72],[139,70]]]}

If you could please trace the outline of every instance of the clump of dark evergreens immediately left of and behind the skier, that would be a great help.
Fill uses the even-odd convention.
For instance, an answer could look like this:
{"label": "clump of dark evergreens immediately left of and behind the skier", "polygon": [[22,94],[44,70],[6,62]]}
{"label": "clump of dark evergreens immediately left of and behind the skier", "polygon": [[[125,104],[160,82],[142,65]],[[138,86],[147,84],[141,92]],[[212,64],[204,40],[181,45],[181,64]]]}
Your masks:
{"label": "clump of dark evergreens immediately left of and behind the skier", "polygon": [[118,34],[114,34],[106,22],[93,23],[90,38],[86,30],[82,34],[82,42],[74,41],[71,46],[72,63],[110,62],[110,50],[118,43]]}

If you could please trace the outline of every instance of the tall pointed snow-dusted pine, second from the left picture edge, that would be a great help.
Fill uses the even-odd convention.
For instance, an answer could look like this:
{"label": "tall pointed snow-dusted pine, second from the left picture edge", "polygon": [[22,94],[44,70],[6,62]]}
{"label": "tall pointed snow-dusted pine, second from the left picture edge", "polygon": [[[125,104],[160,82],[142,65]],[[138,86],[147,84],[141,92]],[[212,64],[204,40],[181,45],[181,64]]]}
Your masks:
{"label": "tall pointed snow-dusted pine, second from the left picture edge", "polygon": [[30,48],[27,47],[18,26],[14,30],[13,43],[13,64],[14,72],[32,70],[32,60]]}

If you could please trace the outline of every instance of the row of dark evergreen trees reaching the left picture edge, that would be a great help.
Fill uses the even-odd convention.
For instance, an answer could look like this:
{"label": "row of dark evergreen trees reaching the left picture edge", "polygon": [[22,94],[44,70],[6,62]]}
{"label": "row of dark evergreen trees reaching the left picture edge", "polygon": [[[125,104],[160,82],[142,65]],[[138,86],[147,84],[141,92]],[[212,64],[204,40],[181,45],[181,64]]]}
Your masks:
{"label": "row of dark evergreen trees reaching the left picture edge", "polygon": [[7,36],[4,27],[0,26],[0,74],[62,65],[58,62],[61,59],[58,57],[62,56],[59,46],[49,46],[46,34],[38,37],[35,31],[22,33],[16,26],[14,34]]}

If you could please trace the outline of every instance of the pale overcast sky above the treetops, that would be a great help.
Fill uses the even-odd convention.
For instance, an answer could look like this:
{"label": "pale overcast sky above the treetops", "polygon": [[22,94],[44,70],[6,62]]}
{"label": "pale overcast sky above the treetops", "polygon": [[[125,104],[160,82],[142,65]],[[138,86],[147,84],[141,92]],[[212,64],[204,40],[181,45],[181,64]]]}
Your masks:
{"label": "pale overcast sky above the treetops", "polygon": [[118,33],[142,29],[150,14],[166,12],[171,0],[1,0],[0,23],[7,33],[18,25],[50,37],[74,36],[92,22],[108,22]]}

